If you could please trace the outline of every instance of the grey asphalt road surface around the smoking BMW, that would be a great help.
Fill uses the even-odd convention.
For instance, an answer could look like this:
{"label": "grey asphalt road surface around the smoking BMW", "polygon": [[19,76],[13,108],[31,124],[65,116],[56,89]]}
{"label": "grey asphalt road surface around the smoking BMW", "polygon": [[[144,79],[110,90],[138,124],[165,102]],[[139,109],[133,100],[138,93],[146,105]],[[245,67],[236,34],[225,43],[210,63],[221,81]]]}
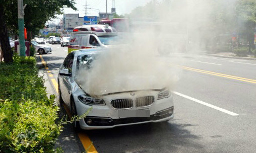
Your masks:
{"label": "grey asphalt road surface around the smoking BMW", "polygon": [[[53,52],[42,57],[57,80],[67,47],[49,46]],[[159,58],[178,67],[174,119],[83,131],[98,152],[256,152],[256,61],[196,54]],[[72,129],[62,135],[65,152],[83,151]]]}

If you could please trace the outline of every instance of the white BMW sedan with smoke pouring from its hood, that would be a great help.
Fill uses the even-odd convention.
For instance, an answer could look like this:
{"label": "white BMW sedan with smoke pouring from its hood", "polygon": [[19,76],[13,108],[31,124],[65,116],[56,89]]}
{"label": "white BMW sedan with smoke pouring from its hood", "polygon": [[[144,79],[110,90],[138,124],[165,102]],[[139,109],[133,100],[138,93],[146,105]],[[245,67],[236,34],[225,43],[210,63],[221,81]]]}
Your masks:
{"label": "white BMW sedan with smoke pouring from its hood", "polygon": [[[73,123],[75,129],[104,129],[116,126],[172,119],[174,103],[166,88],[117,91],[92,96],[85,91],[77,77],[81,71],[92,71],[93,62],[107,50],[81,49],[67,55],[58,74],[59,101],[64,102],[72,116],[81,116],[90,108],[86,118]],[[101,74],[99,74],[101,75]],[[80,75],[79,75],[80,76]],[[82,75],[84,76],[84,75]]]}

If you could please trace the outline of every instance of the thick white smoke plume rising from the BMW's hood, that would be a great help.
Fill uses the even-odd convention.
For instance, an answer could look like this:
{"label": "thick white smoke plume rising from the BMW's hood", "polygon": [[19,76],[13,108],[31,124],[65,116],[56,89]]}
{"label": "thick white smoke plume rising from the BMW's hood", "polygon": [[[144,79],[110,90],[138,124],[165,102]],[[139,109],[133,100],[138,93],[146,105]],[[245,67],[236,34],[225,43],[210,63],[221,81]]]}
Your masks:
{"label": "thick white smoke plume rising from the BMW's hood", "polygon": [[[180,75],[174,65],[184,60],[179,53],[192,48],[188,48],[188,33],[195,34],[198,40],[203,38],[211,9],[210,3],[203,0],[162,3],[141,12],[140,20],[136,21],[139,15],[132,13],[130,31],[121,34],[119,42],[125,45],[110,47],[97,57],[90,70],[79,71],[77,82],[88,94],[173,90]],[[147,13],[153,13],[151,18]]]}

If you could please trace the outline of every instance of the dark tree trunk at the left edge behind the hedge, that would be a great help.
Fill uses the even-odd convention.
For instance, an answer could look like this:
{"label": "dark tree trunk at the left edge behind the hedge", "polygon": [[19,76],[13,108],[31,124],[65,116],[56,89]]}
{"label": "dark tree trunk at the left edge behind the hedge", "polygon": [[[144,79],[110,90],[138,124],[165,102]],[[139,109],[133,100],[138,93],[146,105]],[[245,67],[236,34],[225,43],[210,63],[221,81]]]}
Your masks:
{"label": "dark tree trunk at the left edge behind the hedge", "polygon": [[11,50],[7,27],[4,17],[4,4],[0,3],[0,42],[3,50],[3,56],[6,63],[13,62],[13,52]]}

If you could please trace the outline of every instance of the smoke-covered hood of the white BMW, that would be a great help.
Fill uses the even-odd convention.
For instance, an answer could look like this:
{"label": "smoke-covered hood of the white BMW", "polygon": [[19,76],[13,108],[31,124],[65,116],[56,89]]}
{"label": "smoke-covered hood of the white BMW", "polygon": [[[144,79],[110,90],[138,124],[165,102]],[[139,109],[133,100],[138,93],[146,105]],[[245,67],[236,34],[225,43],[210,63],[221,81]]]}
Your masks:
{"label": "smoke-covered hood of the white BMW", "polygon": [[132,91],[161,91],[166,88],[154,76],[115,77],[115,79],[101,79],[92,83],[90,80],[75,79],[80,88],[89,95],[110,95]]}

